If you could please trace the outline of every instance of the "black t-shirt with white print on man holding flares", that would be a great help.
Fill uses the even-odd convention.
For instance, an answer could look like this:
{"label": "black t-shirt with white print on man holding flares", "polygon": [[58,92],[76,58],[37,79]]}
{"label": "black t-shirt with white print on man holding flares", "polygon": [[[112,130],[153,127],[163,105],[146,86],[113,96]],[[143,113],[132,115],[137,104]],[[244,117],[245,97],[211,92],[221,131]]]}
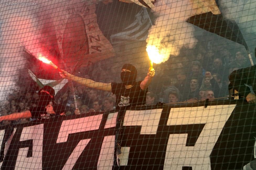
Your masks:
{"label": "black t-shirt with white print on man holding flares", "polygon": [[116,95],[116,107],[130,107],[146,104],[148,89],[142,90],[138,81],[130,89],[126,89],[122,83],[111,83],[112,93]]}

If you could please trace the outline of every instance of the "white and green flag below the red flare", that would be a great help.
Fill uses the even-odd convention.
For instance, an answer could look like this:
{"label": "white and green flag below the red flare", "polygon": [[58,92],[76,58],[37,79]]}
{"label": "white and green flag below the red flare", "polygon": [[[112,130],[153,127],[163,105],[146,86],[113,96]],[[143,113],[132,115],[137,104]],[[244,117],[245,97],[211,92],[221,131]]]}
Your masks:
{"label": "white and green flag below the red flare", "polygon": [[30,77],[40,86],[51,86],[54,91],[55,95],[57,94],[58,91],[60,91],[66,83],[68,83],[68,79],[59,79],[59,80],[47,80],[47,79],[40,79],[36,77],[36,75],[28,69]]}

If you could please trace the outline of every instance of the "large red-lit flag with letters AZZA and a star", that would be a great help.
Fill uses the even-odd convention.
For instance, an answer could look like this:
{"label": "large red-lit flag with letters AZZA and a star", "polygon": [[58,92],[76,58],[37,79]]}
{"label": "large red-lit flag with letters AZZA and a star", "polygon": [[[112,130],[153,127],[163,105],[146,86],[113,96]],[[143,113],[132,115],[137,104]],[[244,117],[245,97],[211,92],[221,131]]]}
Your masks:
{"label": "large red-lit flag with letters AZZA and a star", "polygon": [[66,1],[55,14],[57,42],[68,67],[115,56],[112,45],[99,29],[95,9],[95,3],[90,1]]}

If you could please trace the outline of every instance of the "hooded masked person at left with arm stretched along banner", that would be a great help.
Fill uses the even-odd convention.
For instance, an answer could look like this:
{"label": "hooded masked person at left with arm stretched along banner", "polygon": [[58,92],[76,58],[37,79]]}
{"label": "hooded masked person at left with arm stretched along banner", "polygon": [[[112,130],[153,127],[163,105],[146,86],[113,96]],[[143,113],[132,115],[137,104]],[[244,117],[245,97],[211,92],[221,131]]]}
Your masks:
{"label": "hooded masked person at left with arm stretched along banner", "polygon": [[39,91],[39,103],[36,107],[30,107],[28,111],[13,113],[0,116],[0,121],[17,120],[22,118],[30,118],[32,120],[40,120],[49,118],[51,115],[64,115],[65,108],[62,105],[54,103],[55,91],[50,86],[44,86]]}

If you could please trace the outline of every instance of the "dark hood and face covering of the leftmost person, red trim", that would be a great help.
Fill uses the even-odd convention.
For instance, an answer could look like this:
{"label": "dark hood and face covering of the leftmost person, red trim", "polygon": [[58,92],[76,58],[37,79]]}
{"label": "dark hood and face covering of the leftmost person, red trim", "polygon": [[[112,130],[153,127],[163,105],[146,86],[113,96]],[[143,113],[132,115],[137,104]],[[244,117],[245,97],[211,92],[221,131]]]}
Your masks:
{"label": "dark hood and face covering of the leftmost person, red trim", "polygon": [[[41,90],[47,91],[50,93],[50,95],[46,92],[41,92]],[[50,86],[44,86],[41,90],[39,90],[39,103],[38,103],[38,111],[40,110],[40,114],[43,114],[45,111],[45,107],[49,104],[49,102],[54,102],[54,95],[55,91],[52,87]],[[53,98],[51,97],[53,96]]]}

